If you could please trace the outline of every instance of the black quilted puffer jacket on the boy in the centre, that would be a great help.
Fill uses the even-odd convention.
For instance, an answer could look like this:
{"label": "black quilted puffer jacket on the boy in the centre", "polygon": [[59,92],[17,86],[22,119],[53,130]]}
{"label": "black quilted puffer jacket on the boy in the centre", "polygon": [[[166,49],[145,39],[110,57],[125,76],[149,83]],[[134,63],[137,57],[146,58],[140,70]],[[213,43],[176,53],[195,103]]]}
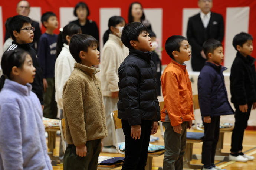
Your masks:
{"label": "black quilted puffer jacket on the boy in the centre", "polygon": [[118,69],[118,76],[118,118],[128,120],[130,125],[140,125],[141,120],[160,120],[152,52],[130,49]]}

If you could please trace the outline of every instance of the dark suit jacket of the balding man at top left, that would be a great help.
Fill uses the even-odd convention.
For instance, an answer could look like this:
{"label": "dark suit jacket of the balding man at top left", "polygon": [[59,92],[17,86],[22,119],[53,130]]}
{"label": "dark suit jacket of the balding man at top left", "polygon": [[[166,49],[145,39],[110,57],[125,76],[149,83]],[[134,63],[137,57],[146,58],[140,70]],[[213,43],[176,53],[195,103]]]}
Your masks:
{"label": "dark suit jacket of the balding man at top left", "polygon": [[[40,40],[40,37],[42,35],[41,33],[41,29],[40,29],[40,26],[39,26],[39,23],[36,22],[36,21],[32,21],[31,23],[31,26],[32,27],[35,27],[35,31],[34,31],[34,39],[33,39],[33,42],[30,43],[30,44],[34,44],[32,45],[32,47],[36,50],[37,52],[37,48],[39,47],[39,40]],[[4,42],[10,38],[10,34],[8,33],[8,31],[6,30],[5,31],[5,37],[4,37]]]}

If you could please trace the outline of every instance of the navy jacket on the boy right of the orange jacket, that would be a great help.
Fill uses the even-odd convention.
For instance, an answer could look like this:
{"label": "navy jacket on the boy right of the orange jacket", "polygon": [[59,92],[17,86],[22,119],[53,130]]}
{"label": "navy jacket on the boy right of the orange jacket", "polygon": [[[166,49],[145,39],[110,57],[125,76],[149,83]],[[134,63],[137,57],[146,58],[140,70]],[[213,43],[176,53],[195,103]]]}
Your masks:
{"label": "navy jacket on the boy right of the orange jacket", "polygon": [[205,62],[198,77],[198,99],[202,117],[231,115],[234,110],[227,98],[223,71],[226,67]]}

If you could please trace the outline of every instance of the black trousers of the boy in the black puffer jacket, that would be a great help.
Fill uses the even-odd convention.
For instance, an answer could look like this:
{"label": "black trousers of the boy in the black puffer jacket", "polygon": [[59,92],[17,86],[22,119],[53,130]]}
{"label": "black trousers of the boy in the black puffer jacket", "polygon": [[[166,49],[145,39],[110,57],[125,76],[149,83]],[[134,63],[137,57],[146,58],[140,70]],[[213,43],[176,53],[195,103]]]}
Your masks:
{"label": "black trousers of the boy in the black puffer jacket", "polygon": [[151,127],[151,120],[141,120],[141,137],[135,140],[131,137],[128,120],[122,120],[125,135],[125,159],[122,170],[145,170]]}

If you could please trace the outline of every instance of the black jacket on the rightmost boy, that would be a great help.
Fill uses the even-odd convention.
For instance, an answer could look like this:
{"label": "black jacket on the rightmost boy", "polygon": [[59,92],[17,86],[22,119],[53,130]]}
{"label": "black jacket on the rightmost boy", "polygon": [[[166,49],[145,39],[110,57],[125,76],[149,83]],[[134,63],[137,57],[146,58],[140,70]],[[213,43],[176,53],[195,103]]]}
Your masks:
{"label": "black jacket on the rightmost boy", "polygon": [[256,101],[255,58],[244,57],[239,52],[231,66],[230,92],[234,105],[245,105]]}

